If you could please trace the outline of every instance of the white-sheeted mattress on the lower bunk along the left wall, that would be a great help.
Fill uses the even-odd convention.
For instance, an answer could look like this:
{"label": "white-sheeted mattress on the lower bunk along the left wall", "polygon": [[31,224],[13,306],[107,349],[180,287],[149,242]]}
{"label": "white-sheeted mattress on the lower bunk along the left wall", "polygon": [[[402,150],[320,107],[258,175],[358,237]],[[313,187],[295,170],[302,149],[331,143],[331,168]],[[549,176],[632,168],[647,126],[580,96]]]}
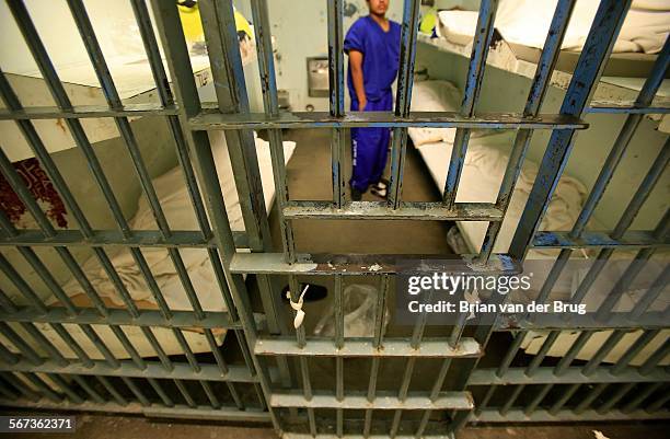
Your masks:
{"label": "white-sheeted mattress on the lower bunk along the left wall", "polygon": [[[238,192],[233,181],[232,167],[228,155],[228,147],[222,131],[210,134],[210,143],[219,182],[226,201],[226,210],[233,231],[243,231],[244,221],[242,219],[242,210],[238,198]],[[296,143],[292,141],[284,142],[285,162],[293,154]],[[263,139],[256,138],[256,153],[258,157],[258,167],[261,171],[261,180],[263,183],[263,195],[265,197],[265,207],[269,211],[275,198],[275,185],[273,180],[272,158],[269,152],[269,143]],[[168,218],[168,222],[172,230],[198,230],[196,217],[188,197],[188,192],[184,184],[181,167],[174,167],[163,175],[152,180],[157,195],[161,201],[161,206]],[[138,208],[135,217],[130,220],[130,226],[134,230],[157,230],[158,227],[153,220],[151,209],[143,196],[138,199]],[[176,275],[174,265],[170,259],[168,252],[164,249],[142,247],[142,254],[153,274],[155,281],[165,297],[168,305],[172,310],[192,310],[190,303],[186,297],[182,282]],[[128,252],[107,252],[111,256],[112,264],[116,268],[118,275],[128,289],[128,292],[136,301],[149,302],[155,307],[155,300],[149,292],[146,286],[143,276],[139,270],[135,259]],[[180,250],[180,254],[184,261],[184,265],[188,272],[193,287],[197,292],[198,299],[203,309],[206,311],[226,311],[219,286],[216,281],[213,270],[209,263],[207,251],[204,249],[184,249]],[[95,257],[89,258],[82,268],[91,284],[97,292],[105,299],[108,299],[116,305],[123,307],[116,289],[107,278],[105,272],[100,267]],[[63,285],[63,290],[70,297],[83,297],[84,291],[81,286],[74,280]],[[76,358],[74,353],[70,350],[67,344],[54,332],[48,324],[36,324],[37,328],[47,337],[57,349],[59,349],[68,358]],[[103,359],[97,348],[91,343],[85,334],[82,333],[78,325],[66,324],[67,330],[72,337],[82,346],[82,348],[93,359]],[[104,340],[112,354],[119,359],[129,358],[128,353],[119,343],[118,338],[112,333],[108,326],[92,325],[97,335]],[[23,334],[21,327],[15,330]],[[139,326],[124,326],[123,331],[126,336],[132,342],[138,354],[142,357],[155,356],[155,351],[142,334]],[[186,343],[194,353],[209,351],[211,348],[207,338],[201,331],[183,328],[182,331]],[[153,334],[159,344],[168,355],[183,354],[181,346],[177,344],[174,335],[169,328],[155,327]],[[217,343],[222,343],[226,335],[226,330],[213,330]],[[25,334],[25,339],[32,344],[32,338]],[[42,351],[38,345],[33,345],[37,351]],[[11,344],[8,344],[11,346]],[[43,353],[46,355],[46,353]]]}

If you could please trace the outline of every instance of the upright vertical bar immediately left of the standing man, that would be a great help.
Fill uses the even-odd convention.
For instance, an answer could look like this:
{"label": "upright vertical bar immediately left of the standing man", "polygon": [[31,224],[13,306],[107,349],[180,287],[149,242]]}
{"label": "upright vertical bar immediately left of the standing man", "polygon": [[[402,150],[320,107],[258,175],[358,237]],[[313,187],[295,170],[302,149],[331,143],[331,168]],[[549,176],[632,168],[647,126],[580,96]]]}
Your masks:
{"label": "upright vertical bar immediately left of the standing man", "polygon": [[[328,13],[328,91],[331,116],[343,117],[344,108],[344,1],[327,2]],[[338,209],[346,203],[345,192],[345,130],[335,128],[331,139],[331,160],[333,167],[333,204]]]}

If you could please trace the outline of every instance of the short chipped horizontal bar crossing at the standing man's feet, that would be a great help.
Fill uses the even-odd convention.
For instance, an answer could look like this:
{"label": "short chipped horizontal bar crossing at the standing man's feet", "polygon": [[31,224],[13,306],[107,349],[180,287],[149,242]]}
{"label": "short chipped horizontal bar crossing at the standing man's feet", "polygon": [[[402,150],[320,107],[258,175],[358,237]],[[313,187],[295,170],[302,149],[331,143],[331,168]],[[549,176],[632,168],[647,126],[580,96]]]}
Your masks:
{"label": "short chipped horizontal bar crossing at the standing man's feet", "polygon": [[494,204],[461,203],[448,209],[441,203],[402,203],[392,209],[385,201],[351,201],[337,208],[332,201],[290,201],[284,208],[290,219],[379,219],[425,221],[501,221],[503,210]]}

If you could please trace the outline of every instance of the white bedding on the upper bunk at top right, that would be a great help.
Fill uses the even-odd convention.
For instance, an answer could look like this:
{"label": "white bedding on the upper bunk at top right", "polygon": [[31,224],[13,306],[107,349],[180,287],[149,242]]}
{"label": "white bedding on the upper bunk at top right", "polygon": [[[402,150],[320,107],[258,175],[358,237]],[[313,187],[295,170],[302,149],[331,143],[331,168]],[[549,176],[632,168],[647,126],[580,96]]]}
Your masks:
{"label": "white bedding on the upper bunk at top right", "polygon": [[[500,0],[495,26],[503,37],[516,44],[542,48],[557,0]],[[578,0],[568,25],[563,49],[581,50],[598,10],[598,1]],[[472,42],[476,11],[439,12],[438,32],[449,41]],[[657,54],[670,32],[670,3],[667,0],[636,0],[614,44],[614,53]]]}

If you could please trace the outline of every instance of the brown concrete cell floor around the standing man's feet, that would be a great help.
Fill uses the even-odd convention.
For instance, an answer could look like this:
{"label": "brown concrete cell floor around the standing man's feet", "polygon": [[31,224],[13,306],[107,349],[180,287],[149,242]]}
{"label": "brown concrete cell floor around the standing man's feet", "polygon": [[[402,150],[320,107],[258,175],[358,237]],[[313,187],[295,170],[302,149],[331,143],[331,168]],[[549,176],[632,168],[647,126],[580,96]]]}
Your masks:
{"label": "brown concrete cell floor around the standing man's feet", "polygon": [[[285,140],[293,140],[297,148],[287,165],[290,199],[328,200],[333,198],[331,180],[331,130],[297,129],[285,132]],[[350,157],[344,166],[346,181],[350,177]],[[447,164],[444,164],[447,165]],[[386,167],[385,176],[389,176]],[[347,185],[348,186],[348,185]],[[416,151],[408,149],[403,180],[403,199],[437,201],[440,194]],[[380,200],[368,194],[363,200]],[[270,212],[270,227],[277,249],[279,224]],[[303,253],[388,253],[444,254],[449,224],[443,221],[353,221],[299,220],[294,222],[296,246]]]}

